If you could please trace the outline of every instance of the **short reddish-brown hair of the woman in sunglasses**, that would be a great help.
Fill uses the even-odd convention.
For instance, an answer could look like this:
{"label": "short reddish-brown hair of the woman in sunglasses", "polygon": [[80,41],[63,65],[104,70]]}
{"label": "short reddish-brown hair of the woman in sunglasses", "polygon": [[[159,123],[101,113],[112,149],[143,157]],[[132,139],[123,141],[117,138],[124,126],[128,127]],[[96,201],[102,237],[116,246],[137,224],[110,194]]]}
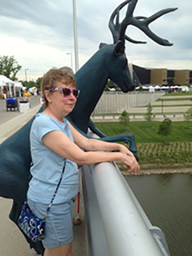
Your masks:
{"label": "short reddish-brown hair of the woman in sunglasses", "polygon": [[76,78],[70,71],[70,68],[51,68],[51,70],[44,75],[41,83],[42,100],[44,102],[43,108],[48,106],[48,101],[45,97],[45,90],[56,88],[58,82],[62,82],[66,85],[70,84],[72,88],[76,88]]}

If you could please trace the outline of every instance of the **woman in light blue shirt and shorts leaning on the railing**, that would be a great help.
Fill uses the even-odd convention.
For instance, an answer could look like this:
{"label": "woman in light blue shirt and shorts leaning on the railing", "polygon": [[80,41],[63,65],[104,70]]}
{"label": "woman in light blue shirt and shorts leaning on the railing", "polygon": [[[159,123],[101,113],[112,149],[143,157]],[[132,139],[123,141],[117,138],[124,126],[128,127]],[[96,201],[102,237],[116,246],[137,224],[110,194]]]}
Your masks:
{"label": "woman in light blue shirt and shorts leaning on the railing", "polygon": [[45,110],[36,115],[30,132],[33,166],[28,204],[38,218],[44,216],[67,159],[60,188],[46,218],[42,243],[45,256],[72,256],[72,198],[78,191],[77,164],[122,161],[133,173],[139,171],[139,165],[123,145],[87,139],[67,122],[65,116],[74,109],[79,95],[70,72],[49,70],[42,80],[41,90]]}

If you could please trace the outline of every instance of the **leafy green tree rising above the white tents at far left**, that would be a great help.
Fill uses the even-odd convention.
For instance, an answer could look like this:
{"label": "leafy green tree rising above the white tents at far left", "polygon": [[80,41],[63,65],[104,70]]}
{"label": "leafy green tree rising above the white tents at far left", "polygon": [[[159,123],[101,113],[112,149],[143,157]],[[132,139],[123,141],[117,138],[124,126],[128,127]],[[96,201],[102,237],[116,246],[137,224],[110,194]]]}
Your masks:
{"label": "leafy green tree rising above the white tents at far left", "polygon": [[22,67],[15,60],[14,56],[0,56],[0,74],[13,81],[17,80],[16,74]]}

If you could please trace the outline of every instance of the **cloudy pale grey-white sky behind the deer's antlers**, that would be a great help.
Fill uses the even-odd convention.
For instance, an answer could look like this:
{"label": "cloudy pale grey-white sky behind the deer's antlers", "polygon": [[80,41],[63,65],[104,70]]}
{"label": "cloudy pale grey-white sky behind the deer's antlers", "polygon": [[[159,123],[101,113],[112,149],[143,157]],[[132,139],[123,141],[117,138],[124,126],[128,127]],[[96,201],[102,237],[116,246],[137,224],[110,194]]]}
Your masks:
{"label": "cloudy pale grey-white sky behind the deer's antlers", "polygon": [[[100,42],[113,43],[109,17],[122,2],[76,0],[79,67],[98,50]],[[191,0],[138,0],[134,16],[148,17],[170,7],[179,9],[152,22],[150,29],[173,46],[156,44],[139,29],[129,26],[128,36],[147,42],[125,43],[129,63],[192,70]],[[25,79],[26,68],[28,79],[43,76],[51,67],[72,65],[75,69],[72,10],[72,0],[1,0],[0,56],[15,56],[22,66],[19,79]],[[125,10],[121,12],[121,20]]]}

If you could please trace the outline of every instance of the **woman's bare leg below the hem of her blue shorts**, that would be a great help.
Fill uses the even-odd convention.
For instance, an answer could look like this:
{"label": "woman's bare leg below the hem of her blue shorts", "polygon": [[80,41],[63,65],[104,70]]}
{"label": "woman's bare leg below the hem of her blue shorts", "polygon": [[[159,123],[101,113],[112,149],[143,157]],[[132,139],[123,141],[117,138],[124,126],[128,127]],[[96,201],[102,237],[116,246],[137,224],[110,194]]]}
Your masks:
{"label": "woman's bare leg below the hem of her blue shorts", "polygon": [[72,243],[54,248],[45,248],[44,256],[72,256]]}

